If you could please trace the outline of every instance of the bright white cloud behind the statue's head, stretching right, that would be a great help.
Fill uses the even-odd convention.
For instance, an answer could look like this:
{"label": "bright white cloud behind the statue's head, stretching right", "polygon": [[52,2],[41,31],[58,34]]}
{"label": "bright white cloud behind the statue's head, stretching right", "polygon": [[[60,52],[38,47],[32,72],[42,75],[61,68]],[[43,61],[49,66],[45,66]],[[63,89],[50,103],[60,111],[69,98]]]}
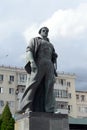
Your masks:
{"label": "bright white cloud behind the statue's head, stretching right", "polygon": [[[51,38],[82,38],[87,31],[87,3],[81,3],[75,9],[57,10],[49,19],[38,26],[31,26],[25,32],[29,39],[42,26],[50,29]],[[28,37],[29,35],[29,37]]]}

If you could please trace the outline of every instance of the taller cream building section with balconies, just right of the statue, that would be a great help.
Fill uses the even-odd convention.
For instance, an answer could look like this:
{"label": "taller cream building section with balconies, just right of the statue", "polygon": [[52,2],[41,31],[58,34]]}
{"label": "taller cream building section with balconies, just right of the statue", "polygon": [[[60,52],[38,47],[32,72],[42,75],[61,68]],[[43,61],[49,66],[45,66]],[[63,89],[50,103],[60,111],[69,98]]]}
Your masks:
{"label": "taller cream building section with balconies, just right of the statue", "polygon": [[56,110],[72,117],[77,116],[75,79],[75,74],[58,73],[54,85]]}

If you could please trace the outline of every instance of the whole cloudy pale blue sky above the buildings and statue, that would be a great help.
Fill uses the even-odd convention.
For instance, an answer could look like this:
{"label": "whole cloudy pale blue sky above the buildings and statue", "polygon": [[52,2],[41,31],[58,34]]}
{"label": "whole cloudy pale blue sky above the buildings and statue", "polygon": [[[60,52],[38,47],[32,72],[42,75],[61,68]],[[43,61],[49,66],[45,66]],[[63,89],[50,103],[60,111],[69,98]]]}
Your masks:
{"label": "whole cloudy pale blue sky above the buildings and statue", "polygon": [[42,26],[58,54],[57,71],[87,90],[87,0],[0,0],[0,66],[24,67],[29,40]]}

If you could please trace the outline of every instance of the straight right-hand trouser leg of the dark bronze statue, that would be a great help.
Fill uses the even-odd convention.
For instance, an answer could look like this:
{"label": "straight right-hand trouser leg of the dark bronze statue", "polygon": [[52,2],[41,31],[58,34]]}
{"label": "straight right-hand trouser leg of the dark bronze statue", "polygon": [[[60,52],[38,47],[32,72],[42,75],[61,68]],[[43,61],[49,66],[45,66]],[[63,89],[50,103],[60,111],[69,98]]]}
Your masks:
{"label": "straight right-hand trouser leg of the dark bronze statue", "polygon": [[45,78],[45,111],[54,112],[54,107],[54,68],[50,65]]}

